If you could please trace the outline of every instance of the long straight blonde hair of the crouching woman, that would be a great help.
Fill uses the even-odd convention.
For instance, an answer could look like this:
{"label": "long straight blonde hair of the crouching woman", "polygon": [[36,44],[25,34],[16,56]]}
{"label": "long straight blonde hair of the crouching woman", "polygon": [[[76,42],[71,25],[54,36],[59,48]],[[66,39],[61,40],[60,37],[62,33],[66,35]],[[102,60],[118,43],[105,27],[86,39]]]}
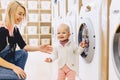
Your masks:
{"label": "long straight blonde hair of the crouching woman", "polygon": [[24,19],[26,17],[25,6],[23,6],[21,3],[19,3],[16,0],[11,1],[7,6],[6,15],[5,15],[5,24],[9,29],[13,27],[15,24],[15,13],[16,13],[17,7],[22,7],[24,9],[25,11]]}

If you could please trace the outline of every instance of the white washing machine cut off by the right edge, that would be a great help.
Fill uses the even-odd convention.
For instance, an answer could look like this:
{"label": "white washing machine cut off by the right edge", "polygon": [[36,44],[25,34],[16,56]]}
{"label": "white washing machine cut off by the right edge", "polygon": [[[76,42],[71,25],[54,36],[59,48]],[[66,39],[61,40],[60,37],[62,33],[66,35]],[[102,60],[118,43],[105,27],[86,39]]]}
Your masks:
{"label": "white washing machine cut off by the right edge", "polygon": [[110,6],[109,80],[120,80],[120,1]]}

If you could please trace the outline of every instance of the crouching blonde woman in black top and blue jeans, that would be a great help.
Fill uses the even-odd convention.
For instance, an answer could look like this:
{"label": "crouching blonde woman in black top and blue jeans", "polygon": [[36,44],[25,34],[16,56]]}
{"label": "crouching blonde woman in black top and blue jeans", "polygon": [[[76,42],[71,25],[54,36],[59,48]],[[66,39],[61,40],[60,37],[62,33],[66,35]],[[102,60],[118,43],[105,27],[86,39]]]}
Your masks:
{"label": "crouching blonde woman in black top and blue jeans", "polygon": [[[10,52],[0,54],[0,80],[24,80],[26,73],[24,66],[27,60],[27,51],[42,51],[49,53],[49,45],[29,46],[23,40],[18,25],[26,16],[25,7],[18,1],[11,1],[7,6],[4,22],[0,22],[0,51],[10,45]],[[16,50],[16,45],[20,50]]]}

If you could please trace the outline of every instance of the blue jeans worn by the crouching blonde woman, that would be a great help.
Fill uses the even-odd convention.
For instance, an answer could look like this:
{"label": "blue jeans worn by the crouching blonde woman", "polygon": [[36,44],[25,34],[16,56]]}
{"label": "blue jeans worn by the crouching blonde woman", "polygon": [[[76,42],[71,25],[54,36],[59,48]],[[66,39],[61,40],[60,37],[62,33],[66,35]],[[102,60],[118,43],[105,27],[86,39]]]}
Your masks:
{"label": "blue jeans worn by the crouching blonde woman", "polygon": [[[28,53],[25,50],[15,51],[14,58],[11,58],[10,54],[4,58],[6,61],[11,62],[24,70]],[[11,69],[0,67],[0,80],[20,80],[15,72]],[[23,79],[21,79],[23,80]]]}

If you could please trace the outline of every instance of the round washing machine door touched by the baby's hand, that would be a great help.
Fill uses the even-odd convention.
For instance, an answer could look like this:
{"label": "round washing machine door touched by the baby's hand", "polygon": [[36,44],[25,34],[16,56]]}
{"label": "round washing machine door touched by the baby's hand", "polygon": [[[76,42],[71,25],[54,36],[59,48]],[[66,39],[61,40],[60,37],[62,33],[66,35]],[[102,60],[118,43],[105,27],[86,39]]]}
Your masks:
{"label": "round washing machine door touched by the baby's hand", "polygon": [[78,45],[82,41],[85,41],[87,46],[81,56],[90,63],[95,52],[95,31],[89,19],[84,20],[79,26]]}

